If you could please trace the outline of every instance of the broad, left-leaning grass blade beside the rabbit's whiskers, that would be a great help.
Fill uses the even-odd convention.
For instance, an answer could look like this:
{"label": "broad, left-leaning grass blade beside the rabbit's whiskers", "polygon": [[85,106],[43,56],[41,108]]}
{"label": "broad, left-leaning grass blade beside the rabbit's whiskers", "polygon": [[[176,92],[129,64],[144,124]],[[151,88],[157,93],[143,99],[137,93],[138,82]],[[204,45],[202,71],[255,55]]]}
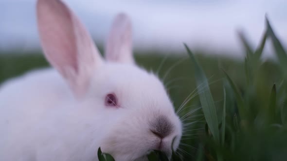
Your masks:
{"label": "broad, left-leaning grass blade beside the rabbit's whiskers", "polygon": [[[190,51],[190,49],[187,47],[186,44],[184,44],[191,60],[192,63],[194,64],[195,68],[195,78],[197,82],[197,91],[199,93],[199,99],[202,105],[202,110],[204,113],[205,120],[208,124],[208,127],[217,143],[219,143],[219,130],[218,130],[218,119],[217,119],[217,114],[216,114],[216,109],[215,109],[215,104],[213,97],[211,95],[210,89],[209,89],[209,84],[208,80],[197,63],[197,60],[193,53]],[[205,88],[199,88],[199,84],[202,84],[201,86]]]}

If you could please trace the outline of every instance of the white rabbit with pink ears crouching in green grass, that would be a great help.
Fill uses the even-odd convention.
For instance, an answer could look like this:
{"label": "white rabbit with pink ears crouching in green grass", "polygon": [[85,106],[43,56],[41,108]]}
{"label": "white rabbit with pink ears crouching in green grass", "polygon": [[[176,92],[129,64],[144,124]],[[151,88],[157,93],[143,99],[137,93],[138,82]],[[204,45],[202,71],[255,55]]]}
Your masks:
{"label": "white rabbit with pink ears crouching in green grass", "polygon": [[60,0],[37,0],[37,22],[56,70],[1,85],[0,161],[97,161],[99,147],[116,161],[170,157],[182,125],[161,81],[134,62],[128,17],[116,17],[106,60]]}

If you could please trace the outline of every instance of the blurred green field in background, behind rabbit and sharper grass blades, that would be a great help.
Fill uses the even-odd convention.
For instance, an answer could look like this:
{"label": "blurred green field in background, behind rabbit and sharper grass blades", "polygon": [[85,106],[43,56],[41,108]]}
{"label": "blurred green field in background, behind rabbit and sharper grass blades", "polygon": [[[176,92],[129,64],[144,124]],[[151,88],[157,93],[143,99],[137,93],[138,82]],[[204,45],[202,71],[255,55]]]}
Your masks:
{"label": "blurred green field in background, behind rabbit and sharper grass blades", "polygon": [[[193,64],[187,53],[180,55],[163,55],[158,53],[135,53],[137,64],[153,72],[159,70],[159,77],[164,81],[168,92],[174,101],[175,107],[179,107],[183,100],[193,92],[197,85],[194,78]],[[203,67],[209,82],[210,88],[218,104],[222,104],[223,88],[222,80],[224,75],[221,68],[225,69],[239,88],[245,86],[244,83],[244,64],[240,60],[211,56],[198,53],[197,60]],[[29,70],[48,67],[42,53],[1,53],[0,54],[0,83]],[[259,88],[258,95],[263,98],[268,97],[268,93],[263,91],[270,90],[274,82],[278,82],[280,72],[278,66],[271,62],[265,62],[256,76],[257,83],[262,86]],[[164,78],[164,80],[163,80]],[[267,89],[266,89],[267,88]],[[193,99],[199,103],[198,99]]]}

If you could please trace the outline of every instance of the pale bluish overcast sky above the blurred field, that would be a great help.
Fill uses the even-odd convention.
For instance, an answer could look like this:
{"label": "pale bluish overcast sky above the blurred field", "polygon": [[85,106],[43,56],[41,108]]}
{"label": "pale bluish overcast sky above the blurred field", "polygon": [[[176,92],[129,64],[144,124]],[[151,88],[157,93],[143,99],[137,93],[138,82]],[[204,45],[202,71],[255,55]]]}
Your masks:
{"label": "pale bluish overcast sky above the blurred field", "polygon": [[[254,47],[264,30],[265,14],[287,44],[287,0],[64,0],[87,26],[96,43],[105,42],[113,17],[132,20],[135,49],[220,52],[242,49],[236,35],[244,29]],[[36,0],[0,0],[0,49],[38,49]],[[237,52],[238,51],[238,52]]]}

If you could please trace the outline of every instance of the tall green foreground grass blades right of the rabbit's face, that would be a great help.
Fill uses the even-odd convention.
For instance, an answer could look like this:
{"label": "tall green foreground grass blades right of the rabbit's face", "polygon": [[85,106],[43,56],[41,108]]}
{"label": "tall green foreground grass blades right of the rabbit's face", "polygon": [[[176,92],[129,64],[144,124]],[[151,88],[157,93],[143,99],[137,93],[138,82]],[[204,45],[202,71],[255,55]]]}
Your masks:
{"label": "tall green foreground grass blades right of the rabbit's face", "polygon": [[[207,161],[285,161],[287,157],[287,126],[286,126],[286,72],[287,55],[280,41],[273,32],[268,19],[266,19],[266,32],[262,41],[255,50],[251,48],[244,35],[240,38],[246,49],[245,58],[245,86],[241,91],[228,72],[225,75],[224,105],[221,124],[218,123],[215,112],[213,98],[208,87],[200,89],[205,91],[204,95],[199,95],[208,129],[211,131],[205,139],[205,154],[203,160]],[[257,73],[262,67],[261,55],[265,42],[270,39],[278,58],[278,66],[282,77],[280,83],[268,85],[269,90],[264,91],[269,94],[269,98],[260,97],[257,93],[260,86],[256,84]],[[187,48],[187,47],[186,47]],[[203,77],[204,73],[197,64],[193,53],[187,48],[193,63],[195,64],[195,77],[199,82],[208,81]],[[277,85],[276,85],[277,84]],[[226,95],[233,96],[234,102],[226,105]],[[204,108],[208,112],[204,112]],[[230,108],[231,113],[226,113],[226,108]],[[213,111],[211,113],[211,111]],[[226,117],[228,116],[228,117]],[[220,130],[221,129],[221,130]],[[208,134],[207,134],[208,135]],[[221,142],[218,136],[221,135]]]}

